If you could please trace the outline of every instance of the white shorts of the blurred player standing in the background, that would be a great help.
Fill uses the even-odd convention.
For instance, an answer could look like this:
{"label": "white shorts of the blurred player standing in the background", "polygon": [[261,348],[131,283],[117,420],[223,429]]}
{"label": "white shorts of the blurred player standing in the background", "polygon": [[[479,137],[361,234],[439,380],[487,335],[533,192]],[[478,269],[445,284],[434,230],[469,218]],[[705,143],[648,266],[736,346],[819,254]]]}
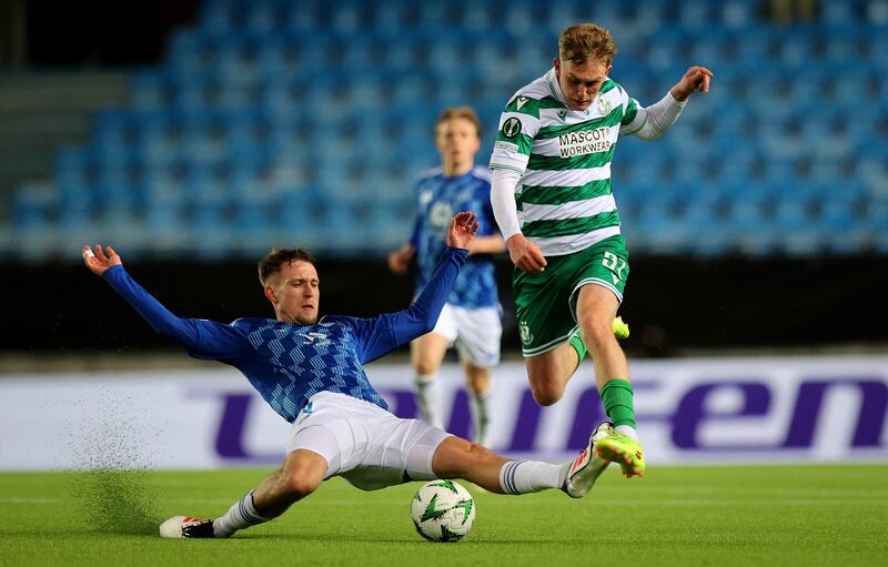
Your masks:
{"label": "white shorts of the blurred player standing in the background", "polygon": [[500,363],[500,340],[503,323],[498,306],[467,310],[445,303],[433,333],[456,346],[460,356],[480,368]]}

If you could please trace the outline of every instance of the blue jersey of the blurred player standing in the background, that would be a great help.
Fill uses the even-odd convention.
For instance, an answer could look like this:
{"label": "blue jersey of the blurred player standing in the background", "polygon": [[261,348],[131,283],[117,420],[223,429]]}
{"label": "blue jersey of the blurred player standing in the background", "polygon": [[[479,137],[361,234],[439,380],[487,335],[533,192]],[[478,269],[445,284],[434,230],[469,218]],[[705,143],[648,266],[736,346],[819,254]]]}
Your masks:
{"label": "blue jersey of the blurred player standing in the background", "polygon": [[[498,234],[491,207],[491,170],[476,166],[465,175],[447,178],[435,169],[415,186],[418,205],[411,244],[416,250],[418,274],[416,291],[422,290],[432,276],[437,261],[446,249],[447,226],[460,211],[474,211],[478,215],[478,236]],[[451,290],[447,303],[465,308],[498,305],[496,275],[490,254],[468,259]]]}

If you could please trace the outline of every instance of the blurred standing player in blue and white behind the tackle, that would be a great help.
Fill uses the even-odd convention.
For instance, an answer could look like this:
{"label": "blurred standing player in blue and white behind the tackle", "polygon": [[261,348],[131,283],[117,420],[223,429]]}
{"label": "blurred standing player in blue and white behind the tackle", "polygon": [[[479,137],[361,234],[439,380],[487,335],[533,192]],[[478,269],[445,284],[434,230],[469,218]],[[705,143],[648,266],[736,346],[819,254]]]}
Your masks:
{"label": "blurred standing player in blue and white behind the tackle", "polygon": [[441,168],[416,182],[416,222],[410,242],[389,255],[389,266],[404,274],[416,259],[418,293],[444,253],[444,234],[454,211],[477,211],[481,229],[470,259],[447,296],[435,328],[411,343],[416,401],[426,423],[445,429],[437,379],[444,354],[456,345],[472,398],[473,441],[488,446],[487,397],[491,369],[500,362],[502,308],[491,254],[506,250],[491,209],[491,171],[475,166],[481,121],[468,107],[445,109],[435,126]]}

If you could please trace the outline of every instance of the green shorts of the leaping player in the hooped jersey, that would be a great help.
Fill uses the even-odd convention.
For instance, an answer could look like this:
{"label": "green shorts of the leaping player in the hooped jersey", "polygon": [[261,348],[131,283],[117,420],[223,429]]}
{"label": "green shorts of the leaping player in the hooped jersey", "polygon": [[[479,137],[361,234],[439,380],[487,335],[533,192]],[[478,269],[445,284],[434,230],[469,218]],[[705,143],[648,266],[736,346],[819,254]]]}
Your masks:
{"label": "green shorts of the leaping player in the hooped jersey", "polygon": [[546,270],[538,274],[516,267],[512,291],[522,354],[542,354],[571,340],[577,332],[576,302],[582,286],[607,287],[622,303],[628,260],[626,241],[617,234],[579,252],[547,257]]}

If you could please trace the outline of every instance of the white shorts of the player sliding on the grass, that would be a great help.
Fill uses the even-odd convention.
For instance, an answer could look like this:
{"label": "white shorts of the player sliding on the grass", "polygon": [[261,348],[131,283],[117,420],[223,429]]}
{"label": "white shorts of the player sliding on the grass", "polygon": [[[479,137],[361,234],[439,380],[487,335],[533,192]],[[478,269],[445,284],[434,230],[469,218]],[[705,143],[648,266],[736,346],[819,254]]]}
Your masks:
{"label": "white shorts of the player sliding on the grass", "polygon": [[341,476],[362,490],[376,490],[437,478],[432,456],[450,436],[370,402],[319,392],[293,422],[286,450],[309,449],[324,457],[324,479]]}

